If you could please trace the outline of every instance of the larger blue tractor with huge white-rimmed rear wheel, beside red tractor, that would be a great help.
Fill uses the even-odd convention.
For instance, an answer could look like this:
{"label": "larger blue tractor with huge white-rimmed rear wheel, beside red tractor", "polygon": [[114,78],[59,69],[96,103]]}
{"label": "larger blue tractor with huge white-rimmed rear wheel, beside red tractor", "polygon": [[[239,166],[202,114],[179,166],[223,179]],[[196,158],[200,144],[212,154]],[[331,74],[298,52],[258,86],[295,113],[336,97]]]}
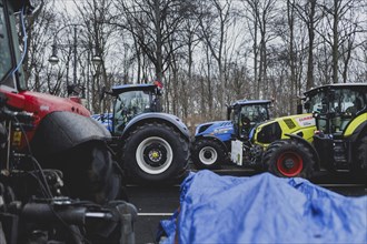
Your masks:
{"label": "larger blue tractor with huge white-rimmed rear wheel, beside red tractor", "polygon": [[111,113],[97,120],[110,130],[117,161],[136,183],[175,182],[187,173],[189,130],[179,118],[161,112],[161,90],[156,82],[103,92],[113,98]]}

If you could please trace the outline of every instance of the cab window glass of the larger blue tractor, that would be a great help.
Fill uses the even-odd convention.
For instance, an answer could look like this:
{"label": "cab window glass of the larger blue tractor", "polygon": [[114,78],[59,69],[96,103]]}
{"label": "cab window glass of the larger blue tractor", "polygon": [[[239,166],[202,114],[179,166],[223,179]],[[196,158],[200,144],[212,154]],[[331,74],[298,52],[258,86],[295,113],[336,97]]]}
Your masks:
{"label": "cab window glass of the larger blue tractor", "polygon": [[151,94],[145,91],[129,91],[119,94],[113,108],[113,129],[121,133],[127,123],[136,115],[151,112]]}

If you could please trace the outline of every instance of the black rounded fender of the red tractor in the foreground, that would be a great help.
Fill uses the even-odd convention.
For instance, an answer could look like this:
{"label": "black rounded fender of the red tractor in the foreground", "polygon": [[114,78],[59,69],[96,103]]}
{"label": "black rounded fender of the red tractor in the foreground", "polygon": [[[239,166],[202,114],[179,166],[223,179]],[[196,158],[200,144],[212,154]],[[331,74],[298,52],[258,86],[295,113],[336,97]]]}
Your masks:
{"label": "black rounded fender of the red tractor in the foreground", "polygon": [[109,141],[110,132],[96,120],[72,112],[46,115],[34,134],[31,149],[36,155],[51,155],[88,141]]}

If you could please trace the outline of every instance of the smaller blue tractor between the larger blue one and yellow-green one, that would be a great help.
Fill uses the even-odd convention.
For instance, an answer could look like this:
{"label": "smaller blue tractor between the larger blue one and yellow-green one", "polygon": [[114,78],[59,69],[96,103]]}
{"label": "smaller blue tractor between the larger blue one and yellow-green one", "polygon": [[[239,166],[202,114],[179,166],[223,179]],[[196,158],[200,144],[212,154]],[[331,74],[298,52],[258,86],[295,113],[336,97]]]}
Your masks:
{"label": "smaller blue tractor between the larger blue one and yellow-green one", "polygon": [[227,108],[227,121],[199,124],[191,144],[194,164],[212,170],[229,162],[231,141],[248,140],[257,124],[269,120],[270,104],[270,100],[239,100]]}

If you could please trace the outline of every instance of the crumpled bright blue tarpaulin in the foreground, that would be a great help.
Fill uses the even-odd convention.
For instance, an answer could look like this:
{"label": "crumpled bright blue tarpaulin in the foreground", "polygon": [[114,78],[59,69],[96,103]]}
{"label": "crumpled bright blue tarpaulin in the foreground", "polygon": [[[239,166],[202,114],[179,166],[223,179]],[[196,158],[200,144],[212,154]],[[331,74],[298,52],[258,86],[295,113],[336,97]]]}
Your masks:
{"label": "crumpled bright blue tarpaulin in the foreground", "polygon": [[307,180],[269,173],[181,184],[180,207],[160,225],[162,243],[367,243],[367,196],[344,196]]}

